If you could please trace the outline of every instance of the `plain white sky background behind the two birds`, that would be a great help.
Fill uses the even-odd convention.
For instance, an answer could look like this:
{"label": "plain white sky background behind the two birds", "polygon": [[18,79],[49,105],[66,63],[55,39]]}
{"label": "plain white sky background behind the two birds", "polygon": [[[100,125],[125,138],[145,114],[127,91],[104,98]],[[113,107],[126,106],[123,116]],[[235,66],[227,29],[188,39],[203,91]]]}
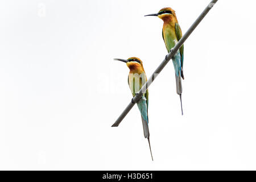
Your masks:
{"label": "plain white sky background behind the two birds", "polygon": [[154,162],[137,106],[110,127],[131,100],[113,58],[149,77],[167,54],[144,15],[170,6],[185,33],[209,2],[1,1],[0,169],[256,169],[254,1],[218,1],[185,42],[183,116],[171,62],[150,86]]}

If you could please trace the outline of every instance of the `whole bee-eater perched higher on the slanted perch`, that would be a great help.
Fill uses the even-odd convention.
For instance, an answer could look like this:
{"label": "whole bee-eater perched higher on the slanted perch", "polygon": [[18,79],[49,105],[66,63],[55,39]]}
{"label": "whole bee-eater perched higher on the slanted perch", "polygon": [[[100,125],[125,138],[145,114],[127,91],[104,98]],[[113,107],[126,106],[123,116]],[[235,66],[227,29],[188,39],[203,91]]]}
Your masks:
{"label": "whole bee-eater perched higher on the slanted perch", "polygon": [[[150,14],[145,16],[158,16],[158,18],[162,19],[163,30],[162,36],[164,43],[166,44],[166,48],[168,53],[170,53],[171,49],[177,44],[177,42],[182,37],[181,28],[177,21],[177,17],[175,11],[170,7],[164,7],[156,14]],[[181,78],[184,80],[183,76],[183,52],[184,46],[182,45],[180,49],[176,52],[175,56],[172,57],[172,63],[174,64],[175,69],[175,78],[176,78],[176,92],[180,95],[180,104],[181,104],[181,113],[183,115],[182,102],[181,102],[181,93],[182,93],[182,85]]]}

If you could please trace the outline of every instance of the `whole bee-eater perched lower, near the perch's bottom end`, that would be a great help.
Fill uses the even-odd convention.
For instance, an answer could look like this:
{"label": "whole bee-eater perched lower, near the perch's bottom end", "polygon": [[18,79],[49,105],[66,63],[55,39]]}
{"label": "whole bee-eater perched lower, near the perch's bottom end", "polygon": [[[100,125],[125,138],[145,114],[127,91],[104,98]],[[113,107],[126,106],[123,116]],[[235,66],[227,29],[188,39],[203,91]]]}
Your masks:
{"label": "whole bee-eater perched lower, near the perch's bottom end", "polygon": [[[128,76],[128,85],[131,89],[133,97],[136,95],[142,86],[147,82],[146,73],[143,68],[142,61],[138,57],[130,57],[127,60],[124,59],[114,59],[118,61],[123,61],[126,63],[127,67],[130,69]],[[143,93],[141,100],[137,102],[139,111],[141,111],[142,125],[144,131],[144,137],[147,138],[150,147],[150,154],[153,160],[151,146],[150,146],[150,134],[148,130],[148,90]]]}

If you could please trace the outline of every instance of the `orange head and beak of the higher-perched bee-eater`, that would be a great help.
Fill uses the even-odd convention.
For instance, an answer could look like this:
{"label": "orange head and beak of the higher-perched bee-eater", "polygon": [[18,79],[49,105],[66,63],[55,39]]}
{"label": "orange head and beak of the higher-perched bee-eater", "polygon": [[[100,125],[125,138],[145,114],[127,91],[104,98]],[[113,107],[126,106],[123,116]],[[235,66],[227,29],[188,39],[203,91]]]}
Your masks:
{"label": "orange head and beak of the higher-perched bee-eater", "polygon": [[149,14],[145,16],[158,16],[158,18],[162,19],[164,22],[177,22],[175,11],[171,9],[171,7],[164,7],[163,9],[160,9],[160,11],[156,14]]}

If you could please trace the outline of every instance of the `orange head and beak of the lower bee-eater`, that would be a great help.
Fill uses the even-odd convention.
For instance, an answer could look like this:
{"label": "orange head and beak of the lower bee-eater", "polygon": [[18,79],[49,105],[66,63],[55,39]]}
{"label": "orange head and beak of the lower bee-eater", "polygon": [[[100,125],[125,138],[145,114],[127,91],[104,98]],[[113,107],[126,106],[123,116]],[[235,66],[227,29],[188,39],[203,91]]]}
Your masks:
{"label": "orange head and beak of the lower bee-eater", "polygon": [[130,73],[142,73],[144,72],[142,60],[138,57],[130,57],[127,60],[125,59],[114,59],[118,61],[123,61],[126,63],[127,67],[130,69]]}

